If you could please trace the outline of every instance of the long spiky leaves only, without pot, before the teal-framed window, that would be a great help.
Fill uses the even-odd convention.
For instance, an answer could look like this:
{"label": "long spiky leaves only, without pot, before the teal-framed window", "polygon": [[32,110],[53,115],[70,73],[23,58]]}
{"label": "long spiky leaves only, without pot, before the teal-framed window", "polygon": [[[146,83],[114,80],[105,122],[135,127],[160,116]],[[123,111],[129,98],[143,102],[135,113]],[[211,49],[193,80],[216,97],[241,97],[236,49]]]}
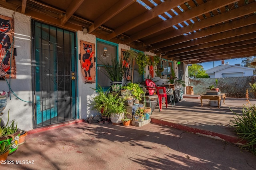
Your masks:
{"label": "long spiky leaves only, without pot, before the teal-framed window", "polygon": [[102,73],[104,73],[111,82],[122,81],[127,68],[121,61],[118,61],[116,58],[111,58],[111,63],[106,62],[103,66],[106,72],[102,71]]}

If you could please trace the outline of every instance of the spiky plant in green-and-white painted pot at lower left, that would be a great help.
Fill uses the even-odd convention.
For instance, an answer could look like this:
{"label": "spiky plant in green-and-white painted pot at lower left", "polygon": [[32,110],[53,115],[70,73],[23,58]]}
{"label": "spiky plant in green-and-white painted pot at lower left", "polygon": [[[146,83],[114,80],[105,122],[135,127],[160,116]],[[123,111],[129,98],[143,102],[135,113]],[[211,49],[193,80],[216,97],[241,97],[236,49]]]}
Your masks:
{"label": "spiky plant in green-and-white painted pot at lower left", "polygon": [[[10,111],[10,109],[9,109]],[[17,127],[17,122],[15,120],[12,120],[9,125],[9,111],[8,111],[8,121],[5,126],[0,127],[0,144],[4,141],[10,142],[12,138],[8,138],[6,136],[13,135],[14,136],[14,142],[12,142],[12,145],[10,146],[10,154],[13,154],[16,152],[18,148],[18,141],[20,137],[20,129]],[[0,119],[0,122],[2,121],[2,118]]]}

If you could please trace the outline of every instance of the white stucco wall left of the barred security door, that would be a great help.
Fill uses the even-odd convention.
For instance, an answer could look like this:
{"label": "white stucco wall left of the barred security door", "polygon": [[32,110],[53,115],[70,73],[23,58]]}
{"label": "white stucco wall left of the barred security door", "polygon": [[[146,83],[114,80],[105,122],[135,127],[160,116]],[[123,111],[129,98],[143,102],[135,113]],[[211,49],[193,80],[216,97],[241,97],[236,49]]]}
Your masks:
{"label": "white stucco wall left of the barred security door", "polygon": [[[12,17],[13,11],[0,7],[0,14]],[[32,79],[31,79],[31,24],[30,17],[18,12],[14,15],[14,47],[17,49],[16,72],[17,78],[10,80],[12,91],[24,101],[32,101]],[[8,79],[9,82],[9,79]],[[9,91],[6,81],[0,81],[0,91]],[[7,121],[10,109],[10,120],[18,122],[18,128],[30,130],[33,128],[32,103],[24,102],[11,94],[7,99],[7,107],[3,111],[3,120]]]}

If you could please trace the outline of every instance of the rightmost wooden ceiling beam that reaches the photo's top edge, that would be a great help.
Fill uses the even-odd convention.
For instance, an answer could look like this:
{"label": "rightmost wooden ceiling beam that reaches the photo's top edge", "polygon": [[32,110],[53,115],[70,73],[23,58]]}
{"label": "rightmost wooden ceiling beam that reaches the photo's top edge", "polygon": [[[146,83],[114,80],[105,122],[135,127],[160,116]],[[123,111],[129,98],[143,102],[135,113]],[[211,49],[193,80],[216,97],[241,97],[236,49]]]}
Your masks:
{"label": "rightmost wooden ceiling beam that reaches the photo's top edge", "polygon": [[192,8],[191,10],[188,10],[188,11],[183,12],[177,16],[169,18],[166,21],[160,22],[158,24],[155,24],[154,26],[151,26],[151,27],[144,29],[140,32],[137,32],[136,34],[130,36],[130,39],[126,40],[125,43],[139,40],[140,38],[143,38],[143,37],[149,36],[151,34],[154,34],[156,32],[165,30],[166,28],[170,28],[176,24],[179,24],[179,23],[182,23],[189,19],[195,18],[196,16],[200,16],[200,15],[210,12],[212,10],[216,10],[218,8],[221,8],[228,4],[234,3],[236,1],[237,0],[214,0],[214,1],[206,2],[196,8]]}

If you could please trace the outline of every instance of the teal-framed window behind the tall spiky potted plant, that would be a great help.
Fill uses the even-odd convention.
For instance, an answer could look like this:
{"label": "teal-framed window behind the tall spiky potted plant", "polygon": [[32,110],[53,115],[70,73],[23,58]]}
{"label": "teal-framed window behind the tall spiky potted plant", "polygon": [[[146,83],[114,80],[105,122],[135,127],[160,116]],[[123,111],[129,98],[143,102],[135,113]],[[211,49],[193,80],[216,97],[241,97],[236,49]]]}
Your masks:
{"label": "teal-framed window behind the tall spiky potted plant", "polygon": [[105,72],[103,63],[111,63],[111,58],[118,59],[118,44],[105,40],[96,39],[96,84],[103,90],[110,87],[110,79],[103,73]]}

